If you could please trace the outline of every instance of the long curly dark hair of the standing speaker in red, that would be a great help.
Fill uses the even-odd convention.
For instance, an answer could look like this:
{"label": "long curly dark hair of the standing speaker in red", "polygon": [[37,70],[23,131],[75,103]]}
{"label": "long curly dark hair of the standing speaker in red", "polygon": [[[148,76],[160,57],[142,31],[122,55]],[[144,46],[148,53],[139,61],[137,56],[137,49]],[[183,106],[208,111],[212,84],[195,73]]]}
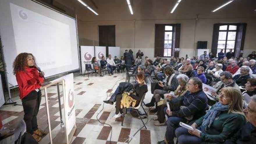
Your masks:
{"label": "long curly dark hair of the standing speaker in red", "polygon": [[15,75],[16,72],[18,71],[24,71],[24,66],[27,65],[27,57],[31,55],[34,59],[34,63],[35,63],[35,67],[37,66],[36,65],[36,60],[35,60],[35,57],[33,56],[33,54],[31,53],[20,53],[14,60],[13,62],[13,74]]}

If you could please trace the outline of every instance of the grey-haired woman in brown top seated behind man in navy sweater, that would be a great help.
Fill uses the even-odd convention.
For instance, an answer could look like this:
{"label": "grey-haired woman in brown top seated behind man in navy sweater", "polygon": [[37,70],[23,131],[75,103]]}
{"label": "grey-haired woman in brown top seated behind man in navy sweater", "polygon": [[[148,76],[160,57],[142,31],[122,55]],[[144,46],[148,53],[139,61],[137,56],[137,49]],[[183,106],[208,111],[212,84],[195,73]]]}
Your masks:
{"label": "grey-haired woman in brown top seated behind man in navy sweater", "polygon": [[[179,74],[176,77],[176,79],[179,82],[179,86],[174,91],[175,97],[183,97],[184,95],[189,94],[188,85],[187,85],[189,81],[189,77],[186,76],[185,74]],[[172,98],[173,98],[172,94],[170,93],[166,96],[166,99],[172,99]],[[158,107],[157,115],[155,115],[153,118],[153,120],[155,120],[154,125],[156,126],[166,125],[164,108],[166,108],[166,104],[162,104]]]}

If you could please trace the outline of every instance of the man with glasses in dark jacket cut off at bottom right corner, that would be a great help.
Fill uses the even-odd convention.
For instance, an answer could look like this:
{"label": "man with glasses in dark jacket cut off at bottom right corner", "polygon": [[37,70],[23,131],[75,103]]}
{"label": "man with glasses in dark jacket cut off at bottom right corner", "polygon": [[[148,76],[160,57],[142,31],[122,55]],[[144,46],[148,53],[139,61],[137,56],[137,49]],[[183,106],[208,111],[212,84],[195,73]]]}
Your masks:
{"label": "man with glasses in dark jacket cut off at bottom right corner", "polygon": [[255,144],[256,143],[256,96],[252,97],[248,107],[243,110],[248,122],[224,144]]}

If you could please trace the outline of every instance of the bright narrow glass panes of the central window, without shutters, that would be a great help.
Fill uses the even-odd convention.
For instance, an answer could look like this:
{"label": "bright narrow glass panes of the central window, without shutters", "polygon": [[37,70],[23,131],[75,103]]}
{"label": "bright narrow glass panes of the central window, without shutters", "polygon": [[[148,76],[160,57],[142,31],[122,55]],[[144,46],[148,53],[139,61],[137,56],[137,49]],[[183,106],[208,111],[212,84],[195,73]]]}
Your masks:
{"label": "bright narrow glass panes of the central window, without shutters", "polygon": [[163,56],[172,56],[173,26],[165,26]]}

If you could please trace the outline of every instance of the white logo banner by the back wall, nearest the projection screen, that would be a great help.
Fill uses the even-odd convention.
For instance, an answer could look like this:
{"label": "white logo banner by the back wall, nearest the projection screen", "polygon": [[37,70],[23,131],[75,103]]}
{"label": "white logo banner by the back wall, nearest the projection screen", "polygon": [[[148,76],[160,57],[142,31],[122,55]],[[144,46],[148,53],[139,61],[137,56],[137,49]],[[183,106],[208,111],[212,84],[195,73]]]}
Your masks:
{"label": "white logo banner by the back wall, nearest the projection screen", "polygon": [[85,71],[85,62],[91,62],[94,56],[94,46],[81,46],[82,73]]}

